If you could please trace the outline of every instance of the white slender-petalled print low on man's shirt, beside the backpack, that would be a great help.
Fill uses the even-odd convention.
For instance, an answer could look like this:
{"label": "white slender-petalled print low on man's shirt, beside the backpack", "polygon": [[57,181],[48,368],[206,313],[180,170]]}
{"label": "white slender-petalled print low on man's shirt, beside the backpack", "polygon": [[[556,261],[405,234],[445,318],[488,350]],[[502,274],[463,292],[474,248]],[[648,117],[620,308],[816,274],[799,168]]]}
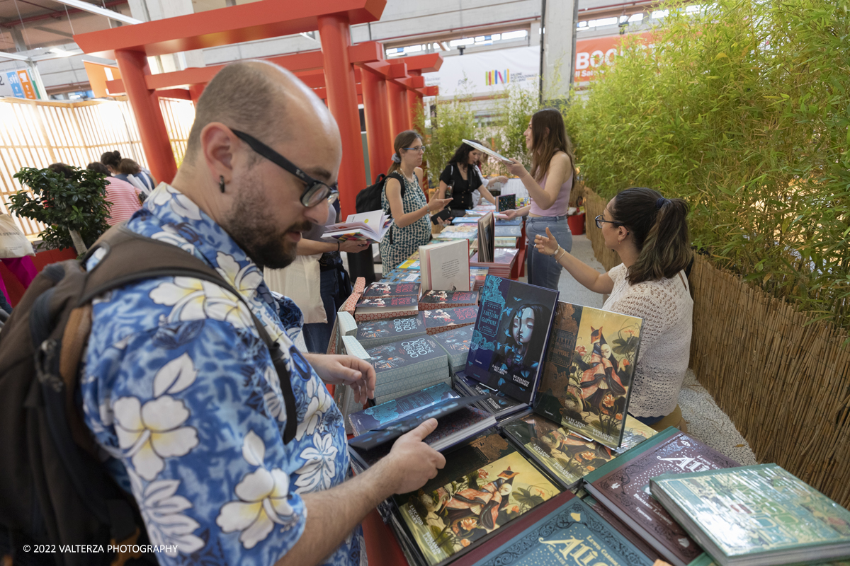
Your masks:
{"label": "white slender-petalled print low on man's shirt, beside the backpack", "polygon": [[191,554],[204,546],[203,539],[192,534],[201,524],[182,513],[192,508],[192,504],[184,496],[175,495],[180,486],[177,479],[152,481],[145,486],[133,470],[128,469],[127,474],[150,544],[165,546],[164,552],[171,558],[176,557],[178,551]]}

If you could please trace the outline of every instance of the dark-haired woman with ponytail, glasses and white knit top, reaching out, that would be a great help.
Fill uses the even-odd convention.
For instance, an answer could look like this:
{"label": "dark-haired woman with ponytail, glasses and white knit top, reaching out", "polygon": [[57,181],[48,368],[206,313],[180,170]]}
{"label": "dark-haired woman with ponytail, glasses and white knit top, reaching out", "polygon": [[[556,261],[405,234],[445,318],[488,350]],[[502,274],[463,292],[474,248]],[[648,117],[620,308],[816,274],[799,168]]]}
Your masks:
{"label": "dark-haired woman with ponytail, glasses and white knit top, reaching out", "polygon": [[[629,412],[650,426],[671,416],[681,425],[679,389],[688,370],[694,301],[687,272],[693,262],[688,203],[665,199],[651,188],[626,188],[596,217],[605,246],[622,263],[599,273],[558,245],[547,230],[535,247],[557,261],[575,280],[609,294],[604,311],[643,318]],[[678,412],[678,416],[673,413]]]}

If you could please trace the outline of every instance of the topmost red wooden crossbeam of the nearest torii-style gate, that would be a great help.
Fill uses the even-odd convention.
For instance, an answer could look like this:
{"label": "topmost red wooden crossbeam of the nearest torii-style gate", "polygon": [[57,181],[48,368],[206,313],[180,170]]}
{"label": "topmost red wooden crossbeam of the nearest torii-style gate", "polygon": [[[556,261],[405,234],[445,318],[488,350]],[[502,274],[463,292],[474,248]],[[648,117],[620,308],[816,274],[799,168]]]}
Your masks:
{"label": "topmost red wooden crossbeam of the nearest torii-style gate", "polygon": [[386,5],[387,0],[261,0],[77,34],[74,41],[84,53],[107,59],[115,59],[120,49],[150,57],[314,31],[326,14],[346,14],[350,24],[365,24],[380,20]]}

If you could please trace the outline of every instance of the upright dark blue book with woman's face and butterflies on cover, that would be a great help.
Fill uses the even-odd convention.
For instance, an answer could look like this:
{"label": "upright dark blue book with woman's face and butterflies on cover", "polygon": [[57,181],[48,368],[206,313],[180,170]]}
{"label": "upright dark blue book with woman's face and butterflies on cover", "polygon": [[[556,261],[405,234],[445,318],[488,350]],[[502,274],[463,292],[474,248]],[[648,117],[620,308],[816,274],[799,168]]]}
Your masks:
{"label": "upright dark blue book with woman's face and butterflies on cover", "polygon": [[558,291],[488,275],[469,346],[467,376],[531,404]]}

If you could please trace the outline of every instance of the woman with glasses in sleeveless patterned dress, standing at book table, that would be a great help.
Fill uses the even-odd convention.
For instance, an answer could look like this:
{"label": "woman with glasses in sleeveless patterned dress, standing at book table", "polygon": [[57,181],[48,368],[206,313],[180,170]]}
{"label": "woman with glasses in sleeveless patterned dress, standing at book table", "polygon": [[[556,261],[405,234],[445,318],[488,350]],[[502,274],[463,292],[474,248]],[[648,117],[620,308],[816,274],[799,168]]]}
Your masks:
{"label": "woman with glasses in sleeveless patterned dress, standing at book table", "polygon": [[393,226],[384,234],[381,250],[382,272],[386,277],[419,246],[431,239],[430,215],[439,212],[451,199],[425,199],[422,192],[422,136],[407,130],[395,137],[393,165],[381,193],[384,213],[393,216]]}

